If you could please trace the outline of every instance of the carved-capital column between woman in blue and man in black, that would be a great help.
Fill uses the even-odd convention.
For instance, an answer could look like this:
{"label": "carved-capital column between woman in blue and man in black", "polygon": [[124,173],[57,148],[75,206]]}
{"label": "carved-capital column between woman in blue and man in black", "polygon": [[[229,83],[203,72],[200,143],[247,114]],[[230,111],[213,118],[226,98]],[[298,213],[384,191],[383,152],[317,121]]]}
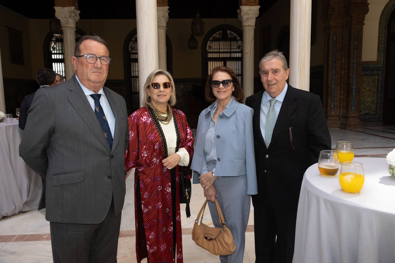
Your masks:
{"label": "carved-capital column between woman in blue and man in black", "polygon": [[243,90],[245,97],[254,94],[254,28],[260,6],[240,6],[237,10],[243,29]]}

